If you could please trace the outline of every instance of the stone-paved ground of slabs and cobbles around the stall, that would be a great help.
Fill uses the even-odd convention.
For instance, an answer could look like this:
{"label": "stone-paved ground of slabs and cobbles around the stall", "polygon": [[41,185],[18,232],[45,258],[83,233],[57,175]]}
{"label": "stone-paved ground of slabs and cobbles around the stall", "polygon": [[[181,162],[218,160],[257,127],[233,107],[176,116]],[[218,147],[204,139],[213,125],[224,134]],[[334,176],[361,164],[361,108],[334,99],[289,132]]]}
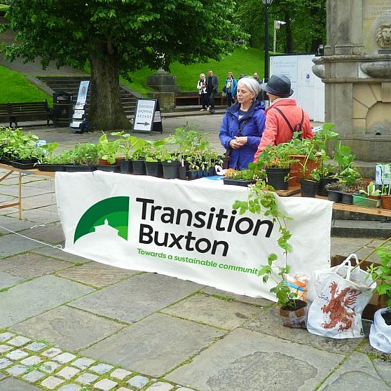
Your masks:
{"label": "stone-paved ground of slabs and cobbles around the stall", "polygon": [[[167,116],[163,135],[144,137],[186,121],[221,148],[221,114]],[[28,130],[62,148],[100,136]],[[13,174],[0,203],[17,194]],[[265,299],[62,252],[53,178],[25,175],[22,205],[22,220],[0,209],[0,391],[390,390],[391,357],[367,335],[322,338],[283,327]],[[331,254],[362,257],[379,242],[332,238]]]}

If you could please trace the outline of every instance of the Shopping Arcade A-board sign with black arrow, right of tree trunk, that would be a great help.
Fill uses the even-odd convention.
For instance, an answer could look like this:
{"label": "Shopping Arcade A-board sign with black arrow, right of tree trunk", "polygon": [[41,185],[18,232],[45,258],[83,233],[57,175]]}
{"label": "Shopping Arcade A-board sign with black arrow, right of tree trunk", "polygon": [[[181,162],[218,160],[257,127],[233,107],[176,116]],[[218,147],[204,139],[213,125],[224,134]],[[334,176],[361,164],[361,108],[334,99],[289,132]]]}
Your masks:
{"label": "Shopping Arcade A-board sign with black arrow, right of tree trunk", "polygon": [[159,101],[157,99],[138,99],[133,120],[133,132],[152,131],[163,133]]}

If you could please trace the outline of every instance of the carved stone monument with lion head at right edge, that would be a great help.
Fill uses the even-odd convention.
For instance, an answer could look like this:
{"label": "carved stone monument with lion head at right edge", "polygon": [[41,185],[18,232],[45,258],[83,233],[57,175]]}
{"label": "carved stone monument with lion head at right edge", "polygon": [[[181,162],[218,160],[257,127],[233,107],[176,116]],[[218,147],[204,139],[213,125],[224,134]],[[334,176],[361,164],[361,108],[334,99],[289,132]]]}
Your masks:
{"label": "carved stone monument with lion head at right edge", "polygon": [[313,62],[325,121],[357,160],[391,162],[391,1],[328,0],[327,45]]}

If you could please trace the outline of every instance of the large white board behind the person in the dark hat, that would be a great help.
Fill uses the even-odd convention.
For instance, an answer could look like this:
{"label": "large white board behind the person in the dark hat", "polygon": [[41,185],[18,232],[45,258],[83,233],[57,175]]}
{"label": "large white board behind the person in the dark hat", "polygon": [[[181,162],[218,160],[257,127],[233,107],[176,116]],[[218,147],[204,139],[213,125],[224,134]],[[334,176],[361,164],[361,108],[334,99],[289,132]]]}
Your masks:
{"label": "large white board behind the person in the dark hat", "polygon": [[315,55],[271,55],[270,75],[284,74],[294,90],[291,95],[312,121],[324,122],[324,83],[313,74]]}

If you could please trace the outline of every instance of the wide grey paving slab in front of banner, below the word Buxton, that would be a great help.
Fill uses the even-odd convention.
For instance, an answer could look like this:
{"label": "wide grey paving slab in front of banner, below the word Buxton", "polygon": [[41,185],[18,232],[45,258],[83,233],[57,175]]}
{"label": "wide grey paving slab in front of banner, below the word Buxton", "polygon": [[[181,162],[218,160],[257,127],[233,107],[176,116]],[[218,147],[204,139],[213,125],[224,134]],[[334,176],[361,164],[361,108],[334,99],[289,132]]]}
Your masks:
{"label": "wide grey paving slab in front of banner, below the word Buxton", "polygon": [[202,285],[144,273],[69,303],[91,313],[133,323],[198,291]]}

